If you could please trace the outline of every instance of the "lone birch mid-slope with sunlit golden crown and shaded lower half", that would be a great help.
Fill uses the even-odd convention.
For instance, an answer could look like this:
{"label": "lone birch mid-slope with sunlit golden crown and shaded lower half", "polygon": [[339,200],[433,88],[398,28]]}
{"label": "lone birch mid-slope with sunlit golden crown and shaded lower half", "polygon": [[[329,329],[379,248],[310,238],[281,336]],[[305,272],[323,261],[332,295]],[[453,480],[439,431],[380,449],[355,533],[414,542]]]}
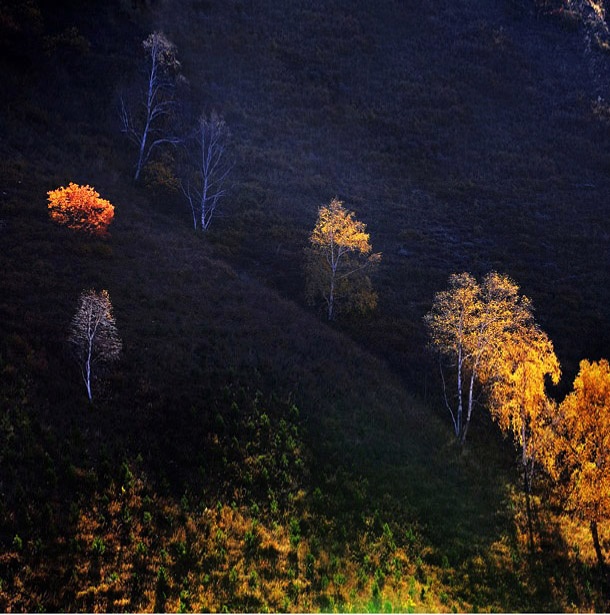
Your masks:
{"label": "lone birch mid-slope with sunlit golden crown and shaded lower half", "polygon": [[313,303],[322,296],[328,320],[337,312],[337,304],[347,310],[365,312],[377,305],[377,293],[369,276],[381,260],[373,254],[366,225],[356,220],[338,199],[318,210],[318,219],[307,250],[307,295]]}

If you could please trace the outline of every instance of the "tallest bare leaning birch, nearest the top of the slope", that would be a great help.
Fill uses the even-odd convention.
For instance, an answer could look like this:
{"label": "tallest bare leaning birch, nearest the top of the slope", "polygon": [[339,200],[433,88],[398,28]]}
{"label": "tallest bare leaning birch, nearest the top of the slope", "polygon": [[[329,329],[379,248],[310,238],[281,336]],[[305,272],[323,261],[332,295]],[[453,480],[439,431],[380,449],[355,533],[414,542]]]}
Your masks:
{"label": "tallest bare leaning birch, nearest the top of the slope", "polygon": [[120,97],[121,131],[138,148],[136,181],[155,149],[180,142],[167,126],[175,108],[175,76],[180,68],[176,46],[161,32],[150,34],[142,45],[147,56],[145,87],[131,104],[124,94]]}

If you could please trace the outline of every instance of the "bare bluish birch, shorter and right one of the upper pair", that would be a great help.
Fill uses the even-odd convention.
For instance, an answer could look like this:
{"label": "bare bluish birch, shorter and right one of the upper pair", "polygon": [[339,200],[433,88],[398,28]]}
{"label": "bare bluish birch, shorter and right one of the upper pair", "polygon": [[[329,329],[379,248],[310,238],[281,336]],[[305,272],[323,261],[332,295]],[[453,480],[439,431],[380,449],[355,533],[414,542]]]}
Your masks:
{"label": "bare bluish birch, shorter and right one of the upper pair", "polygon": [[232,168],[226,152],[228,139],[229,129],[224,120],[212,113],[209,118],[199,117],[187,145],[180,183],[195,229],[198,225],[202,231],[209,228],[220,199],[226,195],[227,177]]}

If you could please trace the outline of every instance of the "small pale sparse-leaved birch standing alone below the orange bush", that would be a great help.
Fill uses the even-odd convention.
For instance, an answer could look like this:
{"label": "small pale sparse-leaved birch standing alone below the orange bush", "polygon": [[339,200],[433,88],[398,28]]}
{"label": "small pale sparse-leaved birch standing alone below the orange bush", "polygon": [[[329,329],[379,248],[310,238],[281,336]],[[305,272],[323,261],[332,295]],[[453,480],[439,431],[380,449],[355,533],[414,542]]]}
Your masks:
{"label": "small pale sparse-leaved birch standing alone below the orange bush", "polygon": [[89,400],[94,370],[116,361],[122,350],[108,291],[83,291],[80,306],[72,319],[70,337]]}

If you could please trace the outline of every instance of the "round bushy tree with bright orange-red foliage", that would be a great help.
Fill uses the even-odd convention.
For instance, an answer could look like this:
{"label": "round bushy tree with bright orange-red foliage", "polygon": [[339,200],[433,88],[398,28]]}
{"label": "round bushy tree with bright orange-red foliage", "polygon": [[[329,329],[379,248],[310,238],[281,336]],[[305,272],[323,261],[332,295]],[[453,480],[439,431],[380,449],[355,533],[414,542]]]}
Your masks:
{"label": "round bushy tree with bright orange-red foliage", "polygon": [[70,182],[67,188],[50,190],[49,216],[51,220],[77,231],[104,235],[114,218],[114,206],[101,199],[91,186]]}

